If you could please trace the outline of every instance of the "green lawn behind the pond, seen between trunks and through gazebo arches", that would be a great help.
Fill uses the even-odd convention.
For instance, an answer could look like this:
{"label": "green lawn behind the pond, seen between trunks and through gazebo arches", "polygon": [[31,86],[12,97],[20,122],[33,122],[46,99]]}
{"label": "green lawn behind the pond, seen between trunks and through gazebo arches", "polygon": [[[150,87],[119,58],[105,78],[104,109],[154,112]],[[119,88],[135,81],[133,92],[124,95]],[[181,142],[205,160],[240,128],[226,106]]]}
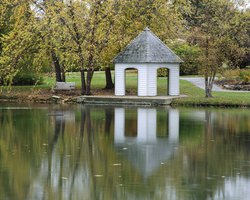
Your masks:
{"label": "green lawn behind the pond, seen between trunks and through gazebo arches", "polygon": [[[112,72],[113,75],[113,72]],[[67,82],[75,82],[80,88],[80,73],[67,73]],[[158,78],[158,95],[166,95],[167,78]],[[13,91],[25,91],[29,89],[52,88],[55,84],[54,75],[44,76],[44,83],[37,86],[13,86]],[[102,89],[105,87],[104,72],[95,72],[92,79],[92,89]],[[126,72],[126,91],[128,94],[137,93],[137,73],[135,71]],[[205,98],[204,90],[194,86],[186,80],[180,80],[180,93],[188,95],[186,98],[176,99],[175,105],[196,105],[196,106],[250,106],[250,92],[213,92],[213,98]]]}

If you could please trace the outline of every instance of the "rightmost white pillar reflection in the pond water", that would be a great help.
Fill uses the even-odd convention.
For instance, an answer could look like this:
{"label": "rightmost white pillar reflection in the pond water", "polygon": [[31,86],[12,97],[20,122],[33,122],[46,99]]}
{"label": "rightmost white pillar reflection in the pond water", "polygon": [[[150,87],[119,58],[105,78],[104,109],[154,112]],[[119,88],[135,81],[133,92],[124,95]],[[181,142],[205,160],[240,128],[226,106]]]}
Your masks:
{"label": "rightmost white pillar reflection in the pond water", "polygon": [[168,133],[169,141],[176,143],[179,141],[179,110],[169,109],[168,111]]}

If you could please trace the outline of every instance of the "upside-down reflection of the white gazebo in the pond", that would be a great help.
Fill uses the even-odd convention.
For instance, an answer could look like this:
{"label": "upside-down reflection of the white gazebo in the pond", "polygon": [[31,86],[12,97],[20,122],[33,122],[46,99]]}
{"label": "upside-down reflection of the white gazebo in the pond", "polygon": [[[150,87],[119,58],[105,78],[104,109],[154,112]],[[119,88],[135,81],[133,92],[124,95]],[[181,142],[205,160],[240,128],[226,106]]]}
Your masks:
{"label": "upside-down reflection of the white gazebo in the pond", "polygon": [[[126,126],[130,121],[126,112],[125,108],[115,108],[115,146],[124,151],[124,156],[146,178],[174,156],[179,143],[179,110],[167,109],[163,124],[155,108],[137,108],[136,130],[131,130],[133,125]],[[128,131],[135,131],[136,135],[131,137]]]}

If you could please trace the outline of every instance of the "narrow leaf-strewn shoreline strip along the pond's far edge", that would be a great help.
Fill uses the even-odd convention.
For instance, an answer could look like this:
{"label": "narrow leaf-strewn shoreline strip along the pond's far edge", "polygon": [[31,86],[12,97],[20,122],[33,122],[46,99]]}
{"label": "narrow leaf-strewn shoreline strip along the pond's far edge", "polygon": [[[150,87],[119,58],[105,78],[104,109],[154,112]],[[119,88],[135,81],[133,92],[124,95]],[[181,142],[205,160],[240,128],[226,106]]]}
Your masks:
{"label": "narrow leaf-strewn shoreline strip along the pond's far edge", "polygon": [[[98,105],[123,105],[123,106],[174,106],[174,107],[224,107],[224,108],[250,108],[250,104],[248,103],[234,103],[234,102],[210,102],[209,99],[203,98],[202,100],[191,99],[186,95],[181,95],[180,97],[170,98],[171,102],[169,102],[169,96],[164,97],[151,97],[146,98],[147,100],[143,103],[138,103],[135,99],[144,99],[135,98],[135,96],[125,96],[125,97],[116,97],[112,95],[112,90],[109,91],[98,91],[91,96],[82,96],[79,91],[68,91],[68,92],[51,92],[48,89],[40,89],[39,92],[11,92],[0,95],[0,103],[40,103],[40,104],[98,104]],[[103,93],[102,93],[103,92]],[[184,97],[184,98],[183,98]],[[79,101],[79,98],[82,99]],[[86,101],[86,99],[89,99]],[[93,99],[101,99],[95,101]],[[106,99],[103,102],[103,99]],[[115,101],[112,99],[116,99]],[[125,103],[120,103],[121,99],[125,99]],[[129,99],[129,102],[126,101]],[[155,101],[155,99],[159,99],[159,101]],[[213,99],[213,98],[212,98]],[[216,97],[214,98],[216,99]],[[110,101],[110,102],[109,102]],[[163,102],[163,103],[161,103]],[[164,103],[165,102],[165,103]],[[167,103],[166,103],[167,102]]]}

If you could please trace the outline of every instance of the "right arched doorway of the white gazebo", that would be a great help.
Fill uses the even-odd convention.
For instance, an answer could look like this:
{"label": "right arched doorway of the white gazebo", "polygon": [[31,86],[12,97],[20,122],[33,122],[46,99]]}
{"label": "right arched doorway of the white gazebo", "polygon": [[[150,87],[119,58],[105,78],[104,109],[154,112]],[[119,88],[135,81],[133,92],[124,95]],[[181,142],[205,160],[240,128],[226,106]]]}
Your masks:
{"label": "right arched doorway of the white gazebo", "polygon": [[169,93],[169,69],[157,69],[157,96],[166,96]]}

